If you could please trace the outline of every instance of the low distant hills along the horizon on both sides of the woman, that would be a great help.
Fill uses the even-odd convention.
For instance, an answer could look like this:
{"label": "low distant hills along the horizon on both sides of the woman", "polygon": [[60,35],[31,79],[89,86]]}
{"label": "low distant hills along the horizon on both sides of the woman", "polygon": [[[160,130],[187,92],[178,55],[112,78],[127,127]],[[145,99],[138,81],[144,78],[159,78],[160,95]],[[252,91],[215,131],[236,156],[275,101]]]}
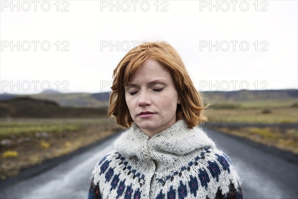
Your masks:
{"label": "low distant hills along the horizon on both sides of the woman", "polygon": [[[287,103],[291,105],[297,103],[298,90],[264,90],[264,91],[213,91],[201,92],[206,103],[217,104],[240,104],[249,102],[253,106],[258,105],[282,105]],[[0,100],[9,100],[19,97],[27,97],[37,100],[51,100],[58,103],[60,106],[72,107],[107,107],[109,103],[109,92],[102,93],[57,93],[46,92],[36,95],[0,95]],[[268,101],[271,101],[268,103]],[[294,104],[295,105],[295,104]]]}

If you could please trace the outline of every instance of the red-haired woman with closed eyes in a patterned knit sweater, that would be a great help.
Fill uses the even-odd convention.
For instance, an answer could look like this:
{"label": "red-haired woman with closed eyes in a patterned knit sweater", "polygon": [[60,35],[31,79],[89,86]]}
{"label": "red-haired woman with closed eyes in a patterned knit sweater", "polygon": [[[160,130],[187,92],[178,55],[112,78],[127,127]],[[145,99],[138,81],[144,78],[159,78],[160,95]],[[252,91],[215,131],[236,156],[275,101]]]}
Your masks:
{"label": "red-haired woman with closed eyes in a patterned knit sweater", "polygon": [[197,127],[205,108],[175,49],[130,50],[113,75],[109,116],[129,127],[95,166],[89,199],[241,199],[229,158]]}

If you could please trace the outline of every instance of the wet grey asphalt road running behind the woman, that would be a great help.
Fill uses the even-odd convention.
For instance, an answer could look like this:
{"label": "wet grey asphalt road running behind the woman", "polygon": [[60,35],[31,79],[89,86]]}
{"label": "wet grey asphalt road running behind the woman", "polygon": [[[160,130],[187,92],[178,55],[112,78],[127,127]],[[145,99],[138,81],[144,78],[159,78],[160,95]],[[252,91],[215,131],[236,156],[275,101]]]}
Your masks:
{"label": "wet grey asphalt road running behind the woman", "polygon": [[[298,164],[250,142],[208,131],[234,162],[244,199],[298,199]],[[0,190],[1,199],[86,199],[91,171],[113,150],[115,136],[67,162]],[[296,163],[295,163],[296,162]]]}

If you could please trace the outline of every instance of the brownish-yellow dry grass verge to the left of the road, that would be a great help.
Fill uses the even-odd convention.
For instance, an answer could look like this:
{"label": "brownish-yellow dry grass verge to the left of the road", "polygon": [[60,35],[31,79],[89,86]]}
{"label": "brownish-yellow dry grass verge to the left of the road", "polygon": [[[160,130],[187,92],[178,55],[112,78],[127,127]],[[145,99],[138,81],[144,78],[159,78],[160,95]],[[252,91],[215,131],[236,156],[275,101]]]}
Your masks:
{"label": "brownish-yellow dry grass verge to the left of the road", "polygon": [[[122,129],[111,118],[69,118],[67,120],[70,121],[70,125],[79,126],[79,128],[68,131],[59,131],[59,129],[54,132],[48,131],[47,137],[36,137],[34,133],[36,135],[38,132],[34,131],[13,131],[11,134],[5,134],[5,139],[10,140],[11,143],[0,148],[2,155],[0,162],[3,163],[0,180],[17,175],[21,169],[26,169],[28,163],[34,166],[36,162],[41,163],[44,160],[61,157]],[[23,138],[30,138],[30,140],[17,142]]]}

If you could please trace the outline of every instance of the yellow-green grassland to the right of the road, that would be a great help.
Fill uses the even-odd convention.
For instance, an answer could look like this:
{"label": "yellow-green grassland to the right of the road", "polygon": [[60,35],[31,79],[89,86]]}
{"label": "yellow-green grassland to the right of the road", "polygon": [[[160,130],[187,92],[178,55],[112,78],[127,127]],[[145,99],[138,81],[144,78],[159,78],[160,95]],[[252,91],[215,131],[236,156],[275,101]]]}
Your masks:
{"label": "yellow-green grassland to the right of the road", "polygon": [[[270,109],[269,113],[262,113],[263,108],[255,109],[215,109],[209,111],[212,123],[243,122],[245,128],[221,128],[224,133],[246,137],[252,141],[274,146],[282,150],[298,154],[298,129],[268,127],[268,124],[298,123],[298,107],[284,107]],[[246,124],[248,128],[246,128]],[[263,124],[255,127],[250,124]]]}

